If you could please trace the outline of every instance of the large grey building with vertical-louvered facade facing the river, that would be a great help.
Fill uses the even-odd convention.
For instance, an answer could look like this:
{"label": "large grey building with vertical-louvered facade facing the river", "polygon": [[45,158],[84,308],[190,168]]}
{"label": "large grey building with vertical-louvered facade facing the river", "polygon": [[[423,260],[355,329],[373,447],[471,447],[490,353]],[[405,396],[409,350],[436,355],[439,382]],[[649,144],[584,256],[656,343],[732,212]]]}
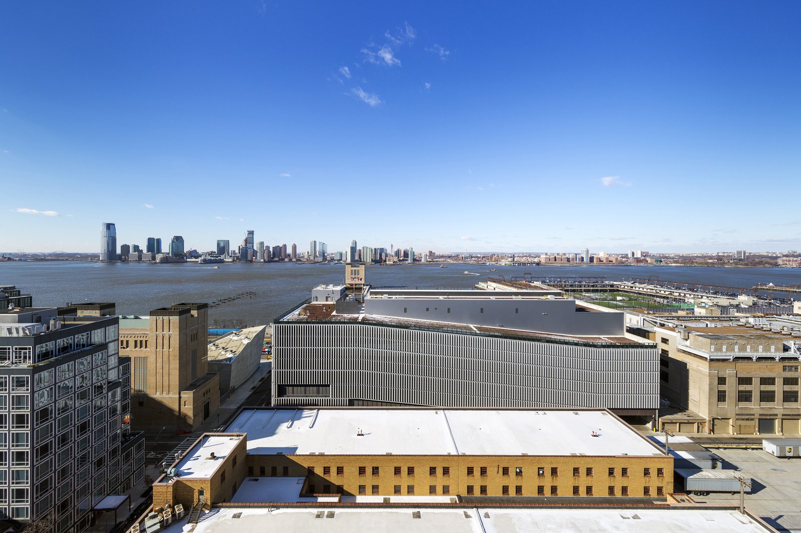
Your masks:
{"label": "large grey building with vertical-louvered facade facing the river", "polygon": [[654,415],[658,353],[623,314],[542,291],[366,289],[273,326],[280,406],[606,407]]}

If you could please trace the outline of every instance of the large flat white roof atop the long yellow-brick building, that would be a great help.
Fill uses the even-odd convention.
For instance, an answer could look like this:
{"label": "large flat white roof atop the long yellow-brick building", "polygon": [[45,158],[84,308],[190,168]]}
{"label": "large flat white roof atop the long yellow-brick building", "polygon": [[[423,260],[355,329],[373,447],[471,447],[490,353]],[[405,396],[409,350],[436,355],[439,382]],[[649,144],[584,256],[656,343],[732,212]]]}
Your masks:
{"label": "large flat white roof atop the long yellow-brick building", "polygon": [[662,455],[602,410],[245,409],[227,431],[261,455]]}

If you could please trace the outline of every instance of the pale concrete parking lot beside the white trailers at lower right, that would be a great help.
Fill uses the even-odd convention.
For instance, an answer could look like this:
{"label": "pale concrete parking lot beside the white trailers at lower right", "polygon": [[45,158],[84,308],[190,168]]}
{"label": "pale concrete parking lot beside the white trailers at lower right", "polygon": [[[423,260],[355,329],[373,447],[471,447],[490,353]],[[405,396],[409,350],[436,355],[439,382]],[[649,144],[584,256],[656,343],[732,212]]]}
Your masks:
{"label": "pale concrete parking lot beside the white trailers at lower right", "polygon": [[[779,459],[762,450],[728,450],[710,447],[725,461],[752,479],[746,507],[779,531],[801,531],[801,459]],[[740,495],[712,493],[693,496],[698,503],[739,505]]]}

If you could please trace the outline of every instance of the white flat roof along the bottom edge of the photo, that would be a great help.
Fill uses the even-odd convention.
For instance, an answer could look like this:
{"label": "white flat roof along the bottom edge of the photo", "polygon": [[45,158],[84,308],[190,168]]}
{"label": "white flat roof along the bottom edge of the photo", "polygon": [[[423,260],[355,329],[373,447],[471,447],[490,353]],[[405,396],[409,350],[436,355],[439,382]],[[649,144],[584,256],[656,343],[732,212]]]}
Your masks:
{"label": "white flat roof along the bottom edge of the photo", "polygon": [[[414,519],[412,513],[420,512]],[[486,515],[485,515],[486,513]],[[234,516],[237,518],[233,518]],[[489,517],[489,518],[488,518]],[[182,533],[184,518],[164,533]],[[765,533],[767,528],[736,511],[712,509],[506,509],[446,508],[268,508],[215,507],[201,516],[194,533],[263,531],[382,531],[383,533],[529,533],[617,531],[618,533]]]}

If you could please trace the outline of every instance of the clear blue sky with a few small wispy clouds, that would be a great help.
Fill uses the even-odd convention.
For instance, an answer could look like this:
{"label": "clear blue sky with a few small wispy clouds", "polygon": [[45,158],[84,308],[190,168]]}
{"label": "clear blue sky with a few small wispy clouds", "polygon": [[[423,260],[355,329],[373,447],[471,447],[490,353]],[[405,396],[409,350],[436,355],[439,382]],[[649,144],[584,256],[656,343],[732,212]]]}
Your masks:
{"label": "clear blue sky with a few small wispy clouds", "polygon": [[799,2],[3,2],[0,251],[801,247]]}

